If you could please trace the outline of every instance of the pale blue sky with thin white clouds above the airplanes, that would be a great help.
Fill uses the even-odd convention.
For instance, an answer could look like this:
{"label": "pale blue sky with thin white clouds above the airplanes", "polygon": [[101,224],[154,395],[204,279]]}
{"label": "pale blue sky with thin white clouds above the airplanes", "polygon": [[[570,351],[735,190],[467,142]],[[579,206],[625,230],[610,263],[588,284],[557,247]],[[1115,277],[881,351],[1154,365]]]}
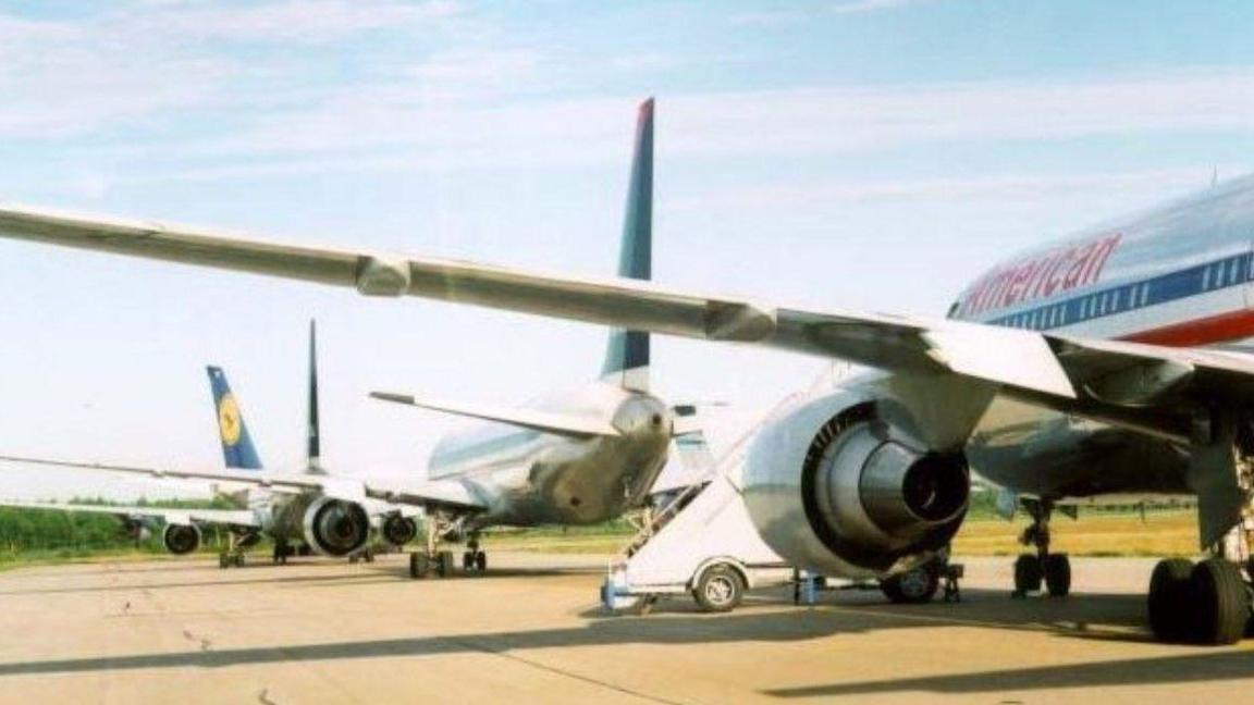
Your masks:
{"label": "pale blue sky with thin white clouds above the airplanes", "polygon": [[[982,270],[1254,171],[1244,1],[0,1],[0,202],[612,273],[635,107],[657,99],[655,278],[942,315]],[[0,454],[221,467],[206,364],[262,459],[425,473],[459,421],[371,390],[517,403],[604,331],[0,242]],[[660,339],[716,445],[824,360]],[[174,492],[3,468],[0,497]],[[177,492],[202,492],[179,485]]]}

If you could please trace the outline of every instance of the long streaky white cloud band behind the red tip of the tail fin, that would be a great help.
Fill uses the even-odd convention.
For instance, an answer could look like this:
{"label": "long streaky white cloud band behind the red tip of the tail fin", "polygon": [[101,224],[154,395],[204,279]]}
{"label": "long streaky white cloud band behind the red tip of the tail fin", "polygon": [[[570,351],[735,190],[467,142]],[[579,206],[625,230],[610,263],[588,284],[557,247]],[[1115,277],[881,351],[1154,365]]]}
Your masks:
{"label": "long streaky white cloud band behind the red tip of the tail fin", "polygon": [[[455,83],[455,82],[449,82]],[[542,168],[617,159],[630,99],[433,102],[431,87],[357,87],[262,115],[201,156],[344,156],[409,149],[438,163]],[[1254,72],[1188,72],[1075,82],[972,82],[660,98],[671,153],[849,153],[972,140],[1249,130]],[[445,159],[445,157],[451,157]]]}

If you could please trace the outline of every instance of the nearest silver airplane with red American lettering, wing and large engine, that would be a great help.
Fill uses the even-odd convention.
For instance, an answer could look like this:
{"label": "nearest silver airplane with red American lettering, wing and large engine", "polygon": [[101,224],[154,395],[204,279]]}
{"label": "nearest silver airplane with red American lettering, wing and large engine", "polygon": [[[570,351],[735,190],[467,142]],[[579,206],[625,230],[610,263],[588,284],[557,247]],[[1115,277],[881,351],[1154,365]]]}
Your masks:
{"label": "nearest silver airplane with red American lettering, wing and large engine", "polygon": [[958,531],[976,472],[1035,519],[1016,587],[1043,581],[1063,595],[1056,506],[1195,494],[1206,557],[1159,563],[1149,618],[1160,639],[1199,644],[1239,640],[1250,616],[1254,358],[1240,344],[1254,336],[1251,232],[1244,178],[1014,257],[977,276],[947,317],[927,319],[0,208],[11,238],[873,368],[752,440],[744,494],[777,553],[824,575],[912,571]]}

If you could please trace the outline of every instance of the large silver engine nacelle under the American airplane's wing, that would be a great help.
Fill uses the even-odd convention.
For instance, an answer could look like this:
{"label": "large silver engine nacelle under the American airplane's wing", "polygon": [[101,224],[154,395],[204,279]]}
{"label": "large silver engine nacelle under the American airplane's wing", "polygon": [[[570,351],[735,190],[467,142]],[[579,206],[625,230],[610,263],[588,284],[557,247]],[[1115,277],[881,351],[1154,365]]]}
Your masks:
{"label": "large silver engine nacelle under the American airplane's wing", "polygon": [[766,543],[793,565],[845,577],[900,570],[944,547],[966,516],[967,462],[904,432],[908,416],[853,389],[767,424],[742,478]]}

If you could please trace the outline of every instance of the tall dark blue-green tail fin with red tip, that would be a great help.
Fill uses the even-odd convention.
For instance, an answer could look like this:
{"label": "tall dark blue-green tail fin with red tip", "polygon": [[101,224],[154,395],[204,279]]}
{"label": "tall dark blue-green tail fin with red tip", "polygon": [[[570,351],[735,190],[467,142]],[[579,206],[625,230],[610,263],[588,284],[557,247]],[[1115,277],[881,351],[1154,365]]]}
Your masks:
{"label": "tall dark blue-green tail fin with red tip", "polygon": [[[648,280],[653,270],[653,99],[640,105],[627,211],[623,216],[618,276]],[[648,332],[609,332],[602,378],[624,389],[648,391]]]}

